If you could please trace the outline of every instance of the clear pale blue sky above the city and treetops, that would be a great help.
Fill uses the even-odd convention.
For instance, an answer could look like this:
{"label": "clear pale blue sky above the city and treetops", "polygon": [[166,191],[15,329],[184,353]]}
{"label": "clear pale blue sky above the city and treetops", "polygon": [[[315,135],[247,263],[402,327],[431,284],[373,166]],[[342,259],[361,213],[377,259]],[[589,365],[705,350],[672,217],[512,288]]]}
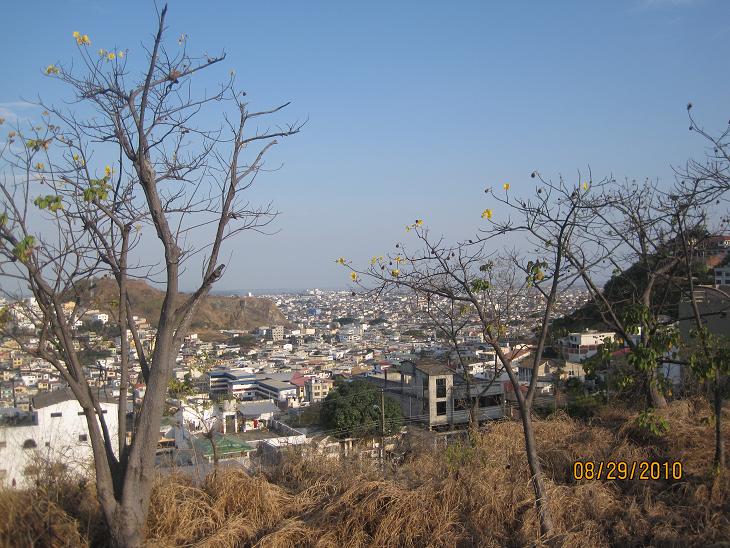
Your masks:
{"label": "clear pale blue sky above the city and treetops", "polygon": [[[94,47],[141,54],[149,1],[5,0],[0,116],[65,97],[41,69]],[[340,255],[367,262],[423,218],[464,237],[483,189],[530,173],[671,179],[730,118],[728,0],[170,2],[169,38],[225,50],[255,106],[292,100],[304,131],[272,155],[253,199],[282,211],[273,236],[233,242],[218,289],[344,287]],[[225,72],[223,72],[225,71]],[[4,133],[3,133],[4,135]]]}

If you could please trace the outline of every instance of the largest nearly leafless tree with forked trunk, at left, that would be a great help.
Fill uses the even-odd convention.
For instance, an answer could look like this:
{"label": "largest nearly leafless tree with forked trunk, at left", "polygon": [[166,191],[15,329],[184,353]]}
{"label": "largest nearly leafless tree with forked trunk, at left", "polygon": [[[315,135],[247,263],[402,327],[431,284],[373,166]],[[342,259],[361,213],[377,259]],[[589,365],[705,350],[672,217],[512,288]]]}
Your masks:
{"label": "largest nearly leafless tree with forked trunk, at left", "polygon": [[[73,110],[45,105],[44,122],[17,128],[2,150],[0,276],[7,291],[15,283],[34,298],[25,310],[33,328],[23,331],[6,321],[3,335],[53,364],[83,408],[97,494],[116,546],[142,542],[168,381],[198,303],[223,275],[224,243],[244,230],[264,230],[276,215],[271,205],[249,204],[244,191],[264,169],[276,139],[301,128],[267,127],[266,119],[288,103],[249,110],[233,73],[214,93],[196,94],[192,80],[225,55],[191,56],[184,35],[177,47],[166,47],[166,13],[167,7],[158,13],[139,80],[129,52],[102,49],[97,55],[87,35],[74,33],[80,63],[45,71],[74,90]],[[201,129],[196,121],[202,112],[222,116],[223,123]],[[103,168],[97,156],[116,161]],[[145,260],[153,254],[160,260]],[[195,266],[200,281],[184,294],[181,275]],[[80,306],[79,288],[104,275],[115,282],[114,320],[122,335],[117,439],[79,360],[75,311],[67,304]],[[133,279],[165,290],[151,351],[132,318]],[[128,442],[132,346],[146,391]]]}

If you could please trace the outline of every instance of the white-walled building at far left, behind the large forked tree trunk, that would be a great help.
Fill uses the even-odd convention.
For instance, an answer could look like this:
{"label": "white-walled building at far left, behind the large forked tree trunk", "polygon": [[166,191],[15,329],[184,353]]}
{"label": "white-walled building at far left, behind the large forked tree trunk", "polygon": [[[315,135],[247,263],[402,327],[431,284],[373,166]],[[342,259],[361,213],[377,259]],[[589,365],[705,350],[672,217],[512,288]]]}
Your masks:
{"label": "white-walled building at far left, behind the large forked tree trunk", "polygon": [[[117,403],[101,398],[100,405],[116,441]],[[79,473],[90,469],[93,453],[86,417],[69,389],[39,394],[33,398],[33,411],[6,412],[0,418],[0,484],[25,486],[26,468],[39,459],[63,463]]]}

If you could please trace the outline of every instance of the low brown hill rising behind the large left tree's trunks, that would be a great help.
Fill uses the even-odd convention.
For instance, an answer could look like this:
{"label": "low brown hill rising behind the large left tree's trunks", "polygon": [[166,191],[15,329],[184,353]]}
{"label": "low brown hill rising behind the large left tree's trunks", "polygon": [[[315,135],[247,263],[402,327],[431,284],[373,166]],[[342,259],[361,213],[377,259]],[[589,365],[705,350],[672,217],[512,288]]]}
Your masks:
{"label": "low brown hill rising behind the large left tree's trunks", "polygon": [[[77,290],[83,305],[103,311],[110,310],[112,303],[119,298],[116,282],[111,278],[86,282]],[[144,281],[130,280],[129,296],[133,313],[145,317],[156,327],[164,292]],[[269,299],[209,295],[198,305],[190,329],[203,338],[206,335],[208,338],[219,338],[218,331],[221,329],[249,330],[262,325],[288,327],[290,323]]]}

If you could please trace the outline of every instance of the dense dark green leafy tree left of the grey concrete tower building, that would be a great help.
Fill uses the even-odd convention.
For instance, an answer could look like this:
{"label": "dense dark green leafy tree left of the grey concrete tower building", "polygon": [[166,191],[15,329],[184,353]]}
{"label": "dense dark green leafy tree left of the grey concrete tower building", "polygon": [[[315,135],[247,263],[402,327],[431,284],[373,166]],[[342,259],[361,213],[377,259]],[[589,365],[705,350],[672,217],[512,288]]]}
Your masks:
{"label": "dense dark green leafy tree left of the grey concrete tower building", "polygon": [[[362,380],[340,384],[322,403],[320,421],[322,426],[340,438],[379,434],[380,390]],[[386,397],[385,433],[397,432],[402,423],[400,405]]]}

